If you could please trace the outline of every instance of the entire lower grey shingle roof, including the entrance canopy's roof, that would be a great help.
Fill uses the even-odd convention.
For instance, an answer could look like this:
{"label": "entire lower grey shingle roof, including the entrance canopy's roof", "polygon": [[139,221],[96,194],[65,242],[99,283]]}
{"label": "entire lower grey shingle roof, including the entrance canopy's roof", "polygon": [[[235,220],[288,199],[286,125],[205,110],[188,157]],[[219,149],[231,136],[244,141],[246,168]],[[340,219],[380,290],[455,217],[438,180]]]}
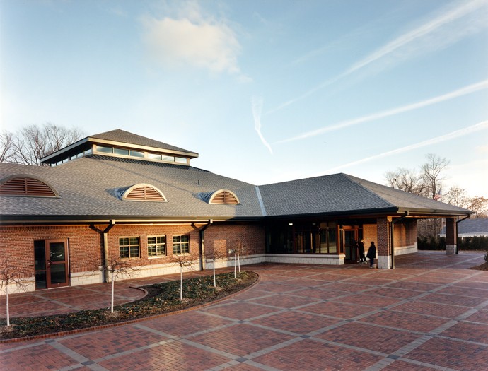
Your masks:
{"label": "entire lower grey shingle roof, including the entrance canopy's roof", "polygon": [[[0,163],[0,181],[11,175],[40,177],[59,198],[0,196],[0,216],[228,219],[397,211],[469,213],[347,174],[256,187],[189,165],[91,155],[57,167]],[[124,189],[141,183],[161,190],[168,202],[120,199]],[[240,204],[208,204],[205,196],[219,189],[236,194]]]}

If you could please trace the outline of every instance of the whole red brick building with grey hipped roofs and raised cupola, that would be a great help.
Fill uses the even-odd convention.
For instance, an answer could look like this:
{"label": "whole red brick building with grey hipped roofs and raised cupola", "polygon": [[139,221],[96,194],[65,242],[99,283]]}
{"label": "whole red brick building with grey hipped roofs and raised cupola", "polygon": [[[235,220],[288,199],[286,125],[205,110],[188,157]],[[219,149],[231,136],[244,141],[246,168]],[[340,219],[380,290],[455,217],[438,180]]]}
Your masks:
{"label": "whole red brick building with grey hipped roofs and raised cupola", "polygon": [[[108,281],[113,259],[139,276],[264,261],[347,264],[357,240],[378,268],[417,251],[417,220],[445,218],[448,254],[470,211],[346,174],[255,186],[190,165],[197,153],[114,130],[42,159],[0,163],[0,261],[30,290]],[[211,259],[214,252],[220,259]]]}

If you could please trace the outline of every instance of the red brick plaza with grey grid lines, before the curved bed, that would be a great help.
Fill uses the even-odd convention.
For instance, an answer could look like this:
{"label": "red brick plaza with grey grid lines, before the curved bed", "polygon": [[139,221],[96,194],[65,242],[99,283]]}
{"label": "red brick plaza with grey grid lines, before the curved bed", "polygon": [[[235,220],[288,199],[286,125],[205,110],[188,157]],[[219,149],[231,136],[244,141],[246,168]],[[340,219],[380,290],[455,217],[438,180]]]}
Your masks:
{"label": "red brick plaza with grey grid lines, before the curved bed", "polygon": [[488,271],[468,269],[483,261],[253,266],[260,283],[200,310],[0,344],[0,370],[488,370]]}

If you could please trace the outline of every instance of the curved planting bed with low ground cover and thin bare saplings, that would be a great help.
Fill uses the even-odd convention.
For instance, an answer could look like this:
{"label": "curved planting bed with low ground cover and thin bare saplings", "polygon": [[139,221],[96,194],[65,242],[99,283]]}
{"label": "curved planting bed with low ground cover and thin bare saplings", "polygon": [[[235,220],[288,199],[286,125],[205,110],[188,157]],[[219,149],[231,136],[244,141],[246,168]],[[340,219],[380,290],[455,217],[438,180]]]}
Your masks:
{"label": "curved planting bed with low ground cover and thin bare saplings", "polygon": [[114,313],[110,312],[109,307],[46,317],[13,318],[9,327],[6,326],[6,319],[1,319],[0,341],[66,333],[178,312],[225,298],[248,288],[257,279],[257,273],[250,271],[237,273],[237,278],[234,278],[233,272],[220,273],[216,275],[214,287],[214,276],[187,278],[183,280],[183,300],[180,300],[180,281],[173,281],[142,287],[148,295],[134,302],[115,306]]}

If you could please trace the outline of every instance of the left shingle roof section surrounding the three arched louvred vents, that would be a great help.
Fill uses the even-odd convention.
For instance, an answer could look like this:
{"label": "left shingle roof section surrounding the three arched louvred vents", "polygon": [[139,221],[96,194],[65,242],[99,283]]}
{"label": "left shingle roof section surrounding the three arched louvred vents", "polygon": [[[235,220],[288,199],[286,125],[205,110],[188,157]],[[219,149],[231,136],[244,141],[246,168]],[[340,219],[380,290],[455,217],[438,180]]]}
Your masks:
{"label": "left shingle roof section surrounding the three arched louvred vents", "polygon": [[[79,158],[57,167],[0,164],[1,178],[35,175],[44,179],[59,198],[0,197],[0,215],[37,216],[261,216],[255,186],[211,172],[165,163],[127,163],[115,158]],[[168,202],[122,201],[119,189],[151,184]],[[202,192],[232,189],[239,205],[207,204]]]}

